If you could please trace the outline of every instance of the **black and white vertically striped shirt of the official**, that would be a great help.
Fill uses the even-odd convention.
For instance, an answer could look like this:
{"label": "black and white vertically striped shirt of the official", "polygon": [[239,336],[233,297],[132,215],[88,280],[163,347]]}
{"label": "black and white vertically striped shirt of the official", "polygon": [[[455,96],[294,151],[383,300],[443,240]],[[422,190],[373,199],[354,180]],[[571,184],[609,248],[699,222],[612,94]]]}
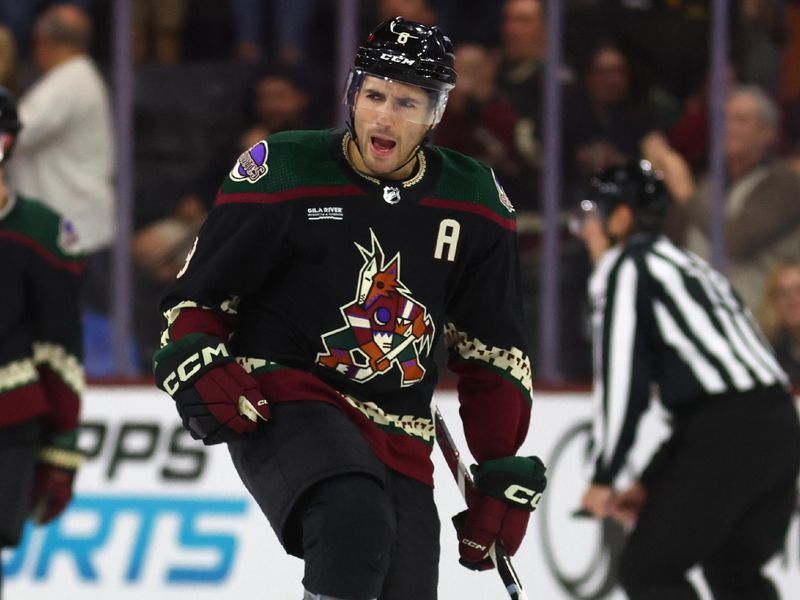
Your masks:
{"label": "black and white vertically striped shirt of the official", "polygon": [[594,348],[594,482],[625,463],[655,384],[667,409],[787,385],[728,280],[663,236],[608,251],[589,281]]}

